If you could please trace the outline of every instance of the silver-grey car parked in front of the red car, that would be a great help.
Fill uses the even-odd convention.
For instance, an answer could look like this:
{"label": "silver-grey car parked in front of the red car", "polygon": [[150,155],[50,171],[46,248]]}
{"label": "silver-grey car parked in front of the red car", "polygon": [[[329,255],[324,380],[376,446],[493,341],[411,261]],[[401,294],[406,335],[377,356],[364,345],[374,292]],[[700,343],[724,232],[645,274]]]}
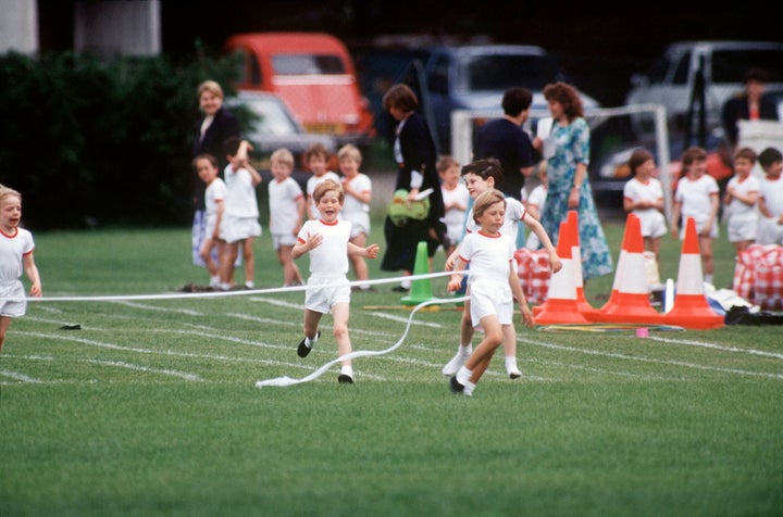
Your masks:
{"label": "silver-grey car parked in front of the red car", "polygon": [[264,91],[239,91],[228,99],[237,110],[243,134],[252,143],[251,157],[260,168],[269,167],[269,155],[276,149],[286,148],[300,161],[301,155],[313,143],[321,142],[335,152],[337,142],[330,135],[304,131],[287,103],[277,94]]}

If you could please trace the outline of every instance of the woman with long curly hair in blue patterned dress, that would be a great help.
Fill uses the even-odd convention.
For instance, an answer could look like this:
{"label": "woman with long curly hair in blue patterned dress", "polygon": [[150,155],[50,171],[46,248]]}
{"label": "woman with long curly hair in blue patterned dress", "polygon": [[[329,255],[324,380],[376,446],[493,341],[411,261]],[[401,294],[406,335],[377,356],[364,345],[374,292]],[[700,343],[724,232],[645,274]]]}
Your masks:
{"label": "woman with long curly hair in blue patterned dress", "polygon": [[545,140],[536,137],[533,142],[547,159],[549,176],[542,225],[552,242],[557,242],[560,223],[568,218],[570,210],[575,210],[583,278],[587,280],[607,275],[612,272],[613,265],[587,176],[591,135],[582,101],[576,89],[564,83],[547,85],[544,98],[549,104],[554,123]]}

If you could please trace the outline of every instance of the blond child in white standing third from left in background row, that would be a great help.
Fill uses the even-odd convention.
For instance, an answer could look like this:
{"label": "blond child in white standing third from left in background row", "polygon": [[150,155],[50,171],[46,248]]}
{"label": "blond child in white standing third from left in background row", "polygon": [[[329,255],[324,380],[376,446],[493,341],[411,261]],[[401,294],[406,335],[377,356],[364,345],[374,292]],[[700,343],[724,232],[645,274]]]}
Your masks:
{"label": "blond child in white standing third from left in background row", "polygon": [[291,178],[294,154],[285,148],[270,156],[272,176],[269,184],[270,234],[277,262],[283,266],[283,286],[301,286],[302,278],[291,256],[296,236],[304,220],[304,193]]}

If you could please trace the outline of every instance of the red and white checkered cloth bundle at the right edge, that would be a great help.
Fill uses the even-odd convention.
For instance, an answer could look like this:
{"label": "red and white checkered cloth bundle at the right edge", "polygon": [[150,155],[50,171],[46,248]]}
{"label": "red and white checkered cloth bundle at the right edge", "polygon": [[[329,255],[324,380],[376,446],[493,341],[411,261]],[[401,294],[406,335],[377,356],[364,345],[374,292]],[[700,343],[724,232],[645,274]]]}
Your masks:
{"label": "red and white checkered cloth bundle at the right edge", "polygon": [[783,311],[783,247],[750,244],[737,256],[734,290],[754,305]]}

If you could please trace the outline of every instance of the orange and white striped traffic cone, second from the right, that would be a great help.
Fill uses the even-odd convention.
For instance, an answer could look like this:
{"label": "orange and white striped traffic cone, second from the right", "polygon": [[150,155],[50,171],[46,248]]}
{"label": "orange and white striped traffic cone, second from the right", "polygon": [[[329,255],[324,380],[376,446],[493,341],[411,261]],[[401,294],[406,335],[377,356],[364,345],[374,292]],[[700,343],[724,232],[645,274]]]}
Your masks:
{"label": "orange and white striped traffic cone, second from the right", "polygon": [[612,293],[598,311],[596,321],[660,324],[661,317],[649,301],[642,224],[638,216],[629,214]]}

